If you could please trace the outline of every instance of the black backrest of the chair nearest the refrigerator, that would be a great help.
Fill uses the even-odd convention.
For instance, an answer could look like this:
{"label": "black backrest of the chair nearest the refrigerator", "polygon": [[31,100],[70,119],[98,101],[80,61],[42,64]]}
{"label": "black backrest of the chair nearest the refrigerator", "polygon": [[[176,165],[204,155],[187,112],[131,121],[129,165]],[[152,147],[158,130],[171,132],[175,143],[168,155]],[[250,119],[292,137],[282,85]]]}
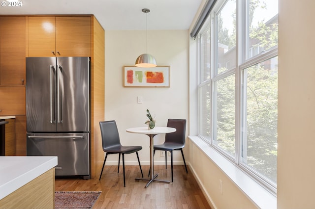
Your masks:
{"label": "black backrest of the chair nearest the refrigerator", "polygon": [[104,151],[108,147],[121,145],[116,121],[101,121],[99,126]]}

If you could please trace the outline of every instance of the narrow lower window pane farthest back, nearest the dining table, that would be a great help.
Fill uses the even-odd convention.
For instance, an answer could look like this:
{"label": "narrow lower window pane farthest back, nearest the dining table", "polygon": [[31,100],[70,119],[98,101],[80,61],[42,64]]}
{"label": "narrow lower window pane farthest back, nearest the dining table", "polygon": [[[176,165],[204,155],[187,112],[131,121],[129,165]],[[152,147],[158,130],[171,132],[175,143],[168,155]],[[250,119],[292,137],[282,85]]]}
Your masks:
{"label": "narrow lower window pane farthest back, nearest the dining table", "polygon": [[199,134],[210,141],[211,100],[210,82],[199,87]]}

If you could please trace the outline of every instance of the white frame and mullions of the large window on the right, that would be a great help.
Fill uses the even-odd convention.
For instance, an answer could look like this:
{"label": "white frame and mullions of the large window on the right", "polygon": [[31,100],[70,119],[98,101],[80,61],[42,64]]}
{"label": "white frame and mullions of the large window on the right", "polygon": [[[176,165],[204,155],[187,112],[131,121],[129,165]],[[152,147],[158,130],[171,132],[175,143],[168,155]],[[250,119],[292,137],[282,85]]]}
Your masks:
{"label": "white frame and mullions of the large window on the right", "polygon": [[[230,162],[232,162],[234,165],[236,165],[237,167],[239,167],[241,170],[243,170],[244,172],[246,172],[254,181],[256,181],[257,183],[261,184],[264,188],[268,189],[272,194],[274,194],[276,196],[277,193],[277,185],[275,183],[272,183],[270,181],[267,181],[265,178],[263,178],[260,174],[258,174],[257,172],[255,172],[253,169],[249,168],[248,166],[246,166],[243,163],[240,163],[240,149],[241,149],[241,117],[244,117],[244,113],[241,112],[241,105],[242,105],[242,99],[241,97],[241,72],[243,69],[250,67],[254,64],[257,64],[261,61],[270,59],[272,57],[275,57],[278,55],[278,47],[273,48],[272,50],[265,52],[265,53],[261,53],[260,55],[255,55],[249,59],[245,59],[246,57],[246,49],[247,49],[247,41],[246,41],[246,32],[245,32],[245,28],[246,28],[246,20],[245,17],[241,17],[240,19],[238,19],[240,17],[240,15],[236,15],[236,28],[238,28],[236,30],[236,67],[233,69],[229,69],[226,72],[223,72],[219,75],[214,75],[214,69],[216,69],[219,64],[217,62],[217,53],[216,50],[217,49],[217,37],[216,37],[216,33],[215,31],[217,30],[217,26],[215,26],[215,11],[220,11],[221,7],[224,6],[225,2],[227,0],[218,0],[216,5],[213,7],[213,11],[211,11],[210,15],[211,15],[211,54],[213,54],[215,52],[215,55],[212,55],[212,57],[210,58],[210,63],[211,63],[211,78],[210,78],[210,82],[211,82],[211,92],[213,92],[213,84],[215,81],[220,80],[221,78],[225,78],[227,76],[230,76],[232,74],[235,74],[235,158],[231,157],[230,155],[228,155],[226,152],[224,152],[222,149],[220,149],[220,147],[218,146],[214,146],[212,141],[215,138],[215,131],[214,131],[214,95],[211,95],[211,122],[210,124],[212,125],[211,127],[211,136],[210,136],[210,140],[202,137],[199,134],[200,131],[200,120],[198,120],[198,133],[197,135],[202,138],[207,144],[209,144],[212,148],[214,148],[216,151],[218,151],[222,156],[224,156],[225,158],[227,158],[228,160],[230,160]],[[236,10],[238,11],[238,14],[240,13],[244,13],[246,11],[246,1],[245,0],[236,0]],[[240,31],[240,33],[239,33]],[[198,37],[198,36],[197,36]],[[200,50],[198,51],[198,38],[196,39],[196,48],[197,48],[197,72],[200,72],[200,57],[198,57],[198,54],[200,54]],[[244,43],[241,44],[239,46],[239,43]],[[246,44],[245,44],[246,43]],[[197,92],[199,87],[201,87],[202,85],[205,85],[209,83],[209,80],[204,81],[204,82],[200,82],[200,75],[197,74]],[[199,94],[197,93],[197,103],[199,101]],[[199,112],[199,105],[196,105],[196,108],[198,109],[198,115],[200,114]]]}

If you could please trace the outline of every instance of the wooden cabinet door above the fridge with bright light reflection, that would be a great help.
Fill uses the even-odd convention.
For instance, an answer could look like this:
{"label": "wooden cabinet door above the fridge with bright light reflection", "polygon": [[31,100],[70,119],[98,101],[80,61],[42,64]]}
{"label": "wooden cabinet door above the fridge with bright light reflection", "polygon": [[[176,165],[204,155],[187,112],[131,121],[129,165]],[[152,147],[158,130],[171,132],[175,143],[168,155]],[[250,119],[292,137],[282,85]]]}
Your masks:
{"label": "wooden cabinet door above the fridge with bright light reflection", "polygon": [[29,56],[56,56],[55,17],[29,17]]}

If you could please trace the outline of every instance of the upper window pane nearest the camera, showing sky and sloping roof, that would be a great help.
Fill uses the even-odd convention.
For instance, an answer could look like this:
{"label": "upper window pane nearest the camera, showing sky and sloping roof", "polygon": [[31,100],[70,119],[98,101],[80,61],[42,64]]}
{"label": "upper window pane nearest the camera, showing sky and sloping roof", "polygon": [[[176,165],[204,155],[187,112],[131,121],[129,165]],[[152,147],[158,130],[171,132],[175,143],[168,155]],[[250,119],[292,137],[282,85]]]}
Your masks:
{"label": "upper window pane nearest the camera, showing sky and sloping roof", "polygon": [[248,0],[247,58],[278,45],[278,0]]}

